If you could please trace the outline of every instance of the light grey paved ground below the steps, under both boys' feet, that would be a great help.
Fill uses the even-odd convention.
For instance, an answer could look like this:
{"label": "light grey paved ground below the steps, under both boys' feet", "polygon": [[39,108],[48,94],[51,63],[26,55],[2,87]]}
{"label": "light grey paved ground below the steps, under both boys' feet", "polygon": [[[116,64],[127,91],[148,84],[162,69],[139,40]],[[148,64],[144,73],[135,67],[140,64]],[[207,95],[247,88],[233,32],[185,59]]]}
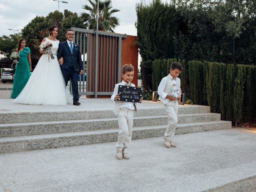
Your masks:
{"label": "light grey paved ground below the steps, under both boys' feet", "polygon": [[0,154],[0,192],[255,192],[256,130],[233,128]]}

